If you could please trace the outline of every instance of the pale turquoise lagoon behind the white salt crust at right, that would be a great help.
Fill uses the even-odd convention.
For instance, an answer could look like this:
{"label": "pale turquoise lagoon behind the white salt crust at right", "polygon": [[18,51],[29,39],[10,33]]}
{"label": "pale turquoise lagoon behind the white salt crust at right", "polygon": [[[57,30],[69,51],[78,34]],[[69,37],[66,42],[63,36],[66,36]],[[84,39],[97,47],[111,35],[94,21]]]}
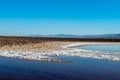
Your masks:
{"label": "pale turquoise lagoon behind the white salt crust at right", "polygon": [[87,49],[87,50],[120,52],[120,45],[115,45],[115,44],[86,45],[86,46],[78,46],[77,48]]}

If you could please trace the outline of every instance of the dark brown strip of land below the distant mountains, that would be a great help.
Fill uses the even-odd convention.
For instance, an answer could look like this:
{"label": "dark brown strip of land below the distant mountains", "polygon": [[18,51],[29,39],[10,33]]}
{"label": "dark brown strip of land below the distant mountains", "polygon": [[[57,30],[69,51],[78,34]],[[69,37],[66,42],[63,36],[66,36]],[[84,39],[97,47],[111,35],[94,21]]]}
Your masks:
{"label": "dark brown strip of land below the distant mountains", "polygon": [[120,38],[68,38],[68,37],[27,37],[27,36],[0,36],[0,47],[5,45],[24,45],[48,41],[64,42],[120,42]]}

